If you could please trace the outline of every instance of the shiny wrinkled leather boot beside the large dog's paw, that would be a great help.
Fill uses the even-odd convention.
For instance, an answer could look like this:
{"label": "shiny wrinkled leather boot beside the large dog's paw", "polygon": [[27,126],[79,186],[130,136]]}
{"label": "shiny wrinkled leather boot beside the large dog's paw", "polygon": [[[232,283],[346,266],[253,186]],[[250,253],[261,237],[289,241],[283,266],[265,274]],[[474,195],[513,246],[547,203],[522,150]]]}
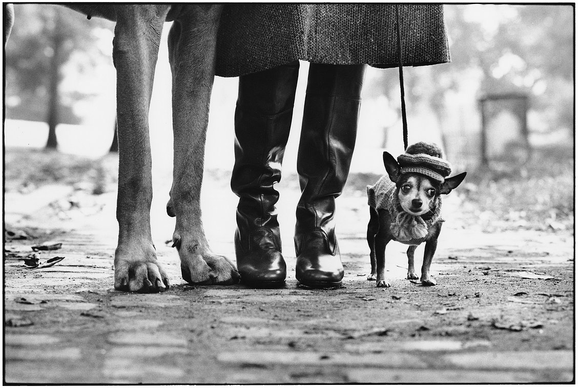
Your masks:
{"label": "shiny wrinkled leather boot beside the large dog's paw", "polygon": [[282,286],[287,267],[275,203],[291,128],[299,62],[239,77],[235,110],[235,165],[231,189],[239,196],[235,253],[241,282]]}

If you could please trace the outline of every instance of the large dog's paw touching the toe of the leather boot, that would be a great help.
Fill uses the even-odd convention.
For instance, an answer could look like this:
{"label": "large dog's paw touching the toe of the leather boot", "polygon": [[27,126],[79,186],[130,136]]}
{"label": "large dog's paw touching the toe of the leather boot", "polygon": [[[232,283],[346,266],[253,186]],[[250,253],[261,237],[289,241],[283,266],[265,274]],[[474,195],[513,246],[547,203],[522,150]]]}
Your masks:
{"label": "large dog's paw touching the toe of the leather boot", "polygon": [[178,244],[183,279],[192,285],[231,285],[239,282],[240,274],[224,256],[203,252],[197,244]]}

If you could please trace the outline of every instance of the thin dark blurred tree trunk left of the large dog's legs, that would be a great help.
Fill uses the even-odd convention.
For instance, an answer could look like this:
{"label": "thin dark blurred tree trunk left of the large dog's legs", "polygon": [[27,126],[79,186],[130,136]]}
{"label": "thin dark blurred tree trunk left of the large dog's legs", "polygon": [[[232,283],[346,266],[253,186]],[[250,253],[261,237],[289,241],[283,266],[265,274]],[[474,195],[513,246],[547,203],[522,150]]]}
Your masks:
{"label": "thin dark blurred tree trunk left of the large dog's legs", "polygon": [[61,49],[64,41],[61,31],[62,19],[60,12],[55,13],[54,35],[52,39],[53,55],[50,59],[50,82],[48,85],[48,140],[46,148],[55,150],[58,147],[56,138],[56,126],[58,125],[58,84],[60,84]]}

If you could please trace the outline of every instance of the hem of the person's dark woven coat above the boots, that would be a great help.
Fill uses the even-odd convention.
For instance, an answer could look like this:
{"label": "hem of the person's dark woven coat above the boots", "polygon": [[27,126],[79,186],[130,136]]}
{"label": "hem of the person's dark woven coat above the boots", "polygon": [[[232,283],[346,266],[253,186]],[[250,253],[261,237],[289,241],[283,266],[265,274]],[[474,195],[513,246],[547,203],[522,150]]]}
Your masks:
{"label": "hem of the person's dark woven coat above the boots", "polygon": [[[404,65],[450,61],[442,5],[400,4]],[[398,65],[395,5],[227,3],[216,74],[236,77],[300,59],[319,64]]]}

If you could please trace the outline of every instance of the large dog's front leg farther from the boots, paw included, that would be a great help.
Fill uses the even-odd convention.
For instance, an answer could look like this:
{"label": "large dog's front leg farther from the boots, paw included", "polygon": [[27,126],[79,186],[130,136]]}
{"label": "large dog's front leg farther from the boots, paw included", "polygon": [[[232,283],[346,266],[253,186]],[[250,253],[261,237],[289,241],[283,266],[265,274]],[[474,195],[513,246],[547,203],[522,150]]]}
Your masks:
{"label": "large dog's front leg farther from the boots, paw included", "polygon": [[117,70],[118,247],[114,288],[160,292],[169,281],[157,263],[150,232],[149,105],[162,24],[169,6],[115,5]]}

